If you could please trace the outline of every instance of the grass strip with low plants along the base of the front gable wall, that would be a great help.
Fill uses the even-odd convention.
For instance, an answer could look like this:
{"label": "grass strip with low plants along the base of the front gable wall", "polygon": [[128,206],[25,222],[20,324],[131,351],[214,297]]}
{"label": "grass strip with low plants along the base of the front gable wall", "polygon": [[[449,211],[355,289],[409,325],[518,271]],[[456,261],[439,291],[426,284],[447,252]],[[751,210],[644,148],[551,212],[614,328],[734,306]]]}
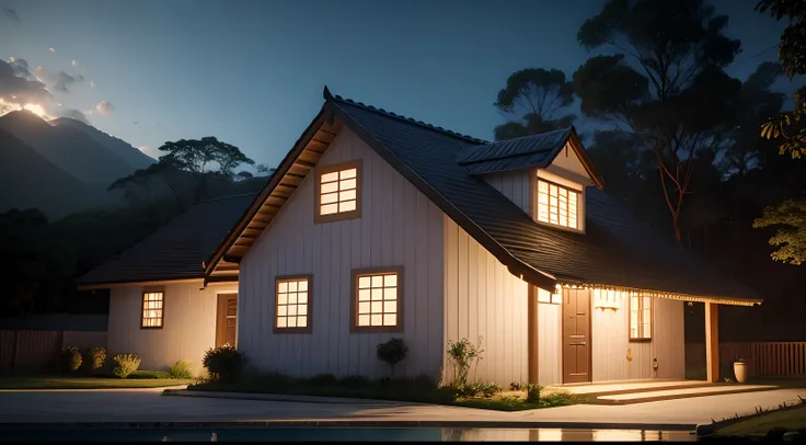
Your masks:
{"label": "grass strip with low plants along the base of the front gable wall", "polygon": [[457,397],[450,388],[437,388],[427,378],[399,378],[370,381],[360,377],[318,376],[310,379],[284,375],[247,374],[239,381],[222,384],[206,381],[191,385],[187,389],[200,391],[273,393],[292,396],[341,397],[434,404],[451,404],[499,411],[519,411],[536,408],[559,407],[576,402],[569,393],[552,393],[541,398],[540,403],[528,403],[526,393],[496,395],[490,398]]}

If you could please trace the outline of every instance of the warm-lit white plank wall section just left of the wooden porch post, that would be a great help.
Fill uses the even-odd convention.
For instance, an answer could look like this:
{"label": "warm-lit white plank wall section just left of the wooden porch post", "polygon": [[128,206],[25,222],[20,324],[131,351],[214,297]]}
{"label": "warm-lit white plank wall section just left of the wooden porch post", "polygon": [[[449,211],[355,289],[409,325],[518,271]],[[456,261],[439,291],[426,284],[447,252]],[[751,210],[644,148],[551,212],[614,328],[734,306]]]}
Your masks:
{"label": "warm-lit white plank wall section just left of the wooden porch post", "polygon": [[[528,284],[445,217],[447,341],[483,339],[484,358],[471,378],[507,386],[528,378]],[[453,368],[446,358],[446,378]]]}

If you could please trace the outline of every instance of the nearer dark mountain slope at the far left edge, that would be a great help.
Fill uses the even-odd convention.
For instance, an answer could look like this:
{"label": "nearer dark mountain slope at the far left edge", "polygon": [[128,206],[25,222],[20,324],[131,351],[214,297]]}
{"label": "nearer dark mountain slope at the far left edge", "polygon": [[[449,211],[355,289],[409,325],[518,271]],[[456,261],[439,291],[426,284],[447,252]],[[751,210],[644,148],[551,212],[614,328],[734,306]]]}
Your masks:
{"label": "nearer dark mountain slope at the far left edge", "polygon": [[0,129],[0,213],[38,207],[50,218],[88,208],[97,192]]}

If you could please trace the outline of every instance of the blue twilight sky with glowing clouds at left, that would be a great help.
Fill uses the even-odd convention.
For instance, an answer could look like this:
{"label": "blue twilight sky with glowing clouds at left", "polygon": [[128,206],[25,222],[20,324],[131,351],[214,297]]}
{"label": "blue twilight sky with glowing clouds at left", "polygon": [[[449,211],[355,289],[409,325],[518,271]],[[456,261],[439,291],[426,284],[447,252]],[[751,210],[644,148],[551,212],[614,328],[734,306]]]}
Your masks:
{"label": "blue twilight sky with glowing clouds at left", "polygon": [[[319,111],[324,84],[491,139],[507,77],[527,67],[571,76],[591,55],[576,43],[579,25],[603,3],[0,0],[0,59],[27,62],[53,96],[46,113],[79,110],[151,156],[166,140],[216,136],[274,167]],[[713,1],[742,41],[728,69],[742,80],[775,59],[785,26],[756,3]]]}

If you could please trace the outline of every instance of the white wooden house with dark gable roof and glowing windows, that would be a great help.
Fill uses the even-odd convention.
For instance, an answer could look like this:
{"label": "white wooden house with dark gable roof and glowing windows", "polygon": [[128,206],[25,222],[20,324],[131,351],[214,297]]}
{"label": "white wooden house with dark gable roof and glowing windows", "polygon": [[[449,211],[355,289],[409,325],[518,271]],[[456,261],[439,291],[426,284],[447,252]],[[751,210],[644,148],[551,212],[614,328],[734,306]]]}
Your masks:
{"label": "white wooden house with dark gable roof and glowing windows", "polygon": [[[602,189],[574,128],[488,142],[325,88],[265,189],[186,272],[192,288],[148,275],[113,289],[110,347],[118,331],[120,347],[162,361],[142,366],[169,350],[199,360],[230,313],[212,294],[237,290],[237,344],[263,370],[385,376],[376,346],[398,336],[410,376],[450,379],[447,345],[468,339],[482,342],[480,380],[683,378],[683,309],[700,301],[715,381],[717,305],[761,300]],[[162,329],[142,329],[154,300]]]}

